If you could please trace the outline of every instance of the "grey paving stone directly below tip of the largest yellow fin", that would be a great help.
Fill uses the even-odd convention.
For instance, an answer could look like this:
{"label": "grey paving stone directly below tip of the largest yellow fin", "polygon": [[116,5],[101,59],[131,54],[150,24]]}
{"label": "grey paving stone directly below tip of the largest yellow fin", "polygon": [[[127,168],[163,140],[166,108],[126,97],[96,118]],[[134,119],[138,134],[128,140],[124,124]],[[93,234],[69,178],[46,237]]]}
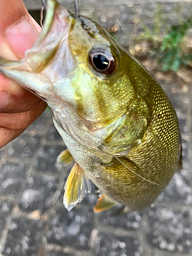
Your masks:
{"label": "grey paving stone directly below tip of the largest yellow fin", "polygon": [[88,207],[73,208],[70,212],[61,207],[51,219],[46,234],[48,243],[89,250],[93,217]]}

